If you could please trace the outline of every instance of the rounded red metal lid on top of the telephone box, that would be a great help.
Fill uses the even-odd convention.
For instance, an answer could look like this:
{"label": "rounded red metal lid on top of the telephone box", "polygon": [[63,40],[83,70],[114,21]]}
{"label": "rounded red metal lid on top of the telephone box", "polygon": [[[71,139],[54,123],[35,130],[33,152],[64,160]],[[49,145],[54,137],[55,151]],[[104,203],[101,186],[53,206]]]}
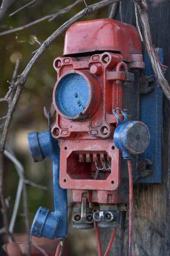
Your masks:
{"label": "rounded red metal lid on top of the telephone box", "polygon": [[81,21],[67,30],[64,56],[95,51],[116,51],[124,61],[136,61],[131,55],[142,54],[139,32],[134,26],[112,19]]}

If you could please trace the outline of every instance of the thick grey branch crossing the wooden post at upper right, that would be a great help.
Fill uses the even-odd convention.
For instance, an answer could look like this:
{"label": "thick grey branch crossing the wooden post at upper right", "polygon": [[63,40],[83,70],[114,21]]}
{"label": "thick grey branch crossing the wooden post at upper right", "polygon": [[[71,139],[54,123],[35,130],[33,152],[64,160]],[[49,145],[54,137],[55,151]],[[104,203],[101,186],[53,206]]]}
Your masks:
{"label": "thick grey branch crossing the wooden post at upper right", "polygon": [[163,93],[167,97],[167,99],[170,100],[170,87],[164,77],[164,74],[162,73],[159,60],[156,55],[155,47],[153,46],[152,42],[146,1],[138,0],[138,12],[140,15],[140,21],[144,35],[144,44],[152,65],[153,73],[157,79],[158,86],[163,90]]}

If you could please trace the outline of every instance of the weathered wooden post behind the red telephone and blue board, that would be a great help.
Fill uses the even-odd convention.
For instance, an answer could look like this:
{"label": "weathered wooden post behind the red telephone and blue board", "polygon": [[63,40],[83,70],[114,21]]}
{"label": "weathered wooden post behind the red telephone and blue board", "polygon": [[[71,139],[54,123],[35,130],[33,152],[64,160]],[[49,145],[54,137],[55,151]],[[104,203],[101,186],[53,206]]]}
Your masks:
{"label": "weathered wooden post behind the red telephone and blue board", "polygon": [[[164,64],[170,68],[170,1],[147,3],[153,44],[163,48]],[[122,16],[123,22],[135,26],[132,5],[132,1],[122,2]],[[116,18],[119,18],[119,14]],[[170,83],[168,70],[165,76]],[[136,184],[133,189],[133,256],[170,255],[170,102],[165,96],[163,117],[162,184]],[[111,229],[100,229],[103,253],[111,233]],[[128,212],[123,212],[121,226],[117,228],[116,238],[108,256],[113,255],[128,255]]]}

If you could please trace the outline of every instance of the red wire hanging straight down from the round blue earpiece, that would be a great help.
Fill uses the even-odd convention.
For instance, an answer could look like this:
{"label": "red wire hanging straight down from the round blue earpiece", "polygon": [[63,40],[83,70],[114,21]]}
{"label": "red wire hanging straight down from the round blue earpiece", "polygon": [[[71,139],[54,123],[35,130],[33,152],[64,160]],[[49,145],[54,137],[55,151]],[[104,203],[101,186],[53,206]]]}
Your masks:
{"label": "red wire hanging straight down from the round blue earpiece", "polygon": [[132,222],[133,222],[133,175],[130,159],[127,160],[129,172],[129,256],[132,256]]}

